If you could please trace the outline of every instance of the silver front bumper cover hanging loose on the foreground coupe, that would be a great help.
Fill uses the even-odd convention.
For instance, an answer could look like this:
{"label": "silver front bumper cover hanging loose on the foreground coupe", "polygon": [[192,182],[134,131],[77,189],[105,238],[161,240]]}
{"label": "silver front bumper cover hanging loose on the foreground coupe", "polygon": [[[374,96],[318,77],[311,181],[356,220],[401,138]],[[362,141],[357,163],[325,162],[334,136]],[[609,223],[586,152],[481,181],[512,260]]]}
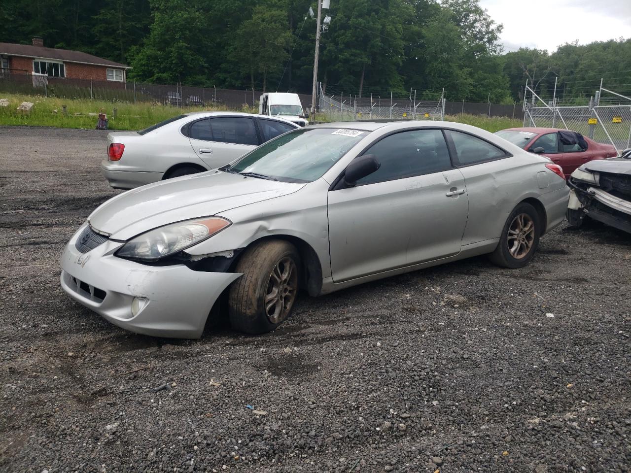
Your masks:
{"label": "silver front bumper cover hanging loose on the foreground coupe", "polygon": [[[61,287],[74,300],[123,329],[139,334],[199,338],[221,292],[240,274],[193,271],[184,265],[145,266],[114,256],[122,243],[87,253],[74,243],[61,256]],[[133,315],[131,305],[141,307]]]}

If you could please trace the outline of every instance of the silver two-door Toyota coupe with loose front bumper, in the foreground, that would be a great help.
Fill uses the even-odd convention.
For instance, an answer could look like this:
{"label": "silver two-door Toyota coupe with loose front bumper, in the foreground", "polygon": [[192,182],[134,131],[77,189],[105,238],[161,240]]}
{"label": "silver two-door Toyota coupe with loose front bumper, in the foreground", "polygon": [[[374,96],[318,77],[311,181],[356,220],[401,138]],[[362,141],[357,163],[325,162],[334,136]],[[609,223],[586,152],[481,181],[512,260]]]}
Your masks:
{"label": "silver two-door Toyota coupe with loose front bumper, in the foreground", "polygon": [[103,203],[66,246],[61,286],[141,334],[199,337],[220,301],[235,329],[258,334],[300,288],[317,296],[481,254],[522,267],[568,197],[560,166],[476,127],[310,126]]}

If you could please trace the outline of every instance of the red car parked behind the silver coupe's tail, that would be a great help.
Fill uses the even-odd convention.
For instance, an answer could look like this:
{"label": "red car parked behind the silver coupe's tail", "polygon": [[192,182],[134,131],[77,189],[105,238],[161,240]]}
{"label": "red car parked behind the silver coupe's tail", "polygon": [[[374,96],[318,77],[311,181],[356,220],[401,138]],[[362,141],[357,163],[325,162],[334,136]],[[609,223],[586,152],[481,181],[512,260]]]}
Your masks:
{"label": "red car parked behind the silver coupe's tail", "polygon": [[575,131],[559,128],[508,128],[495,132],[512,144],[550,158],[563,168],[565,178],[587,161],[617,156],[611,144],[596,143]]}

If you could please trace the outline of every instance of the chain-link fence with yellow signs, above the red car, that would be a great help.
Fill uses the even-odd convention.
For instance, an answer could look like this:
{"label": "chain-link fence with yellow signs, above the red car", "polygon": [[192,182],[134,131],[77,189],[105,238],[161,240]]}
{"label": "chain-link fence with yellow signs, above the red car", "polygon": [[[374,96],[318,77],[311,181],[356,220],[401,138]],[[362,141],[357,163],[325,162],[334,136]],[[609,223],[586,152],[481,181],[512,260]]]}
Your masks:
{"label": "chain-link fence with yellow signs, above the red car", "polygon": [[524,126],[565,128],[618,151],[631,147],[631,98],[602,85],[586,105],[560,106],[556,98],[546,102],[528,85],[526,93]]}

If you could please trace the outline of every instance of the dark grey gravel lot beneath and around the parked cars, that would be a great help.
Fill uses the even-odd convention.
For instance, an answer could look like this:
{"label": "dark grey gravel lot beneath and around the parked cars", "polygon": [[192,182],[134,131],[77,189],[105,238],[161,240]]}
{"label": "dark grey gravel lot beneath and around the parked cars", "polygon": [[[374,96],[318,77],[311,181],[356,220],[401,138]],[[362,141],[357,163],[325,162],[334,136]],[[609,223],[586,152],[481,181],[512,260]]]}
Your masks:
{"label": "dark grey gravel lot beneath and around the parked cars", "polygon": [[629,235],[562,226],[521,270],[480,257],[302,296],[266,336],[156,339],[59,288],[119,192],[103,156],[104,132],[0,127],[1,471],[630,470]]}

